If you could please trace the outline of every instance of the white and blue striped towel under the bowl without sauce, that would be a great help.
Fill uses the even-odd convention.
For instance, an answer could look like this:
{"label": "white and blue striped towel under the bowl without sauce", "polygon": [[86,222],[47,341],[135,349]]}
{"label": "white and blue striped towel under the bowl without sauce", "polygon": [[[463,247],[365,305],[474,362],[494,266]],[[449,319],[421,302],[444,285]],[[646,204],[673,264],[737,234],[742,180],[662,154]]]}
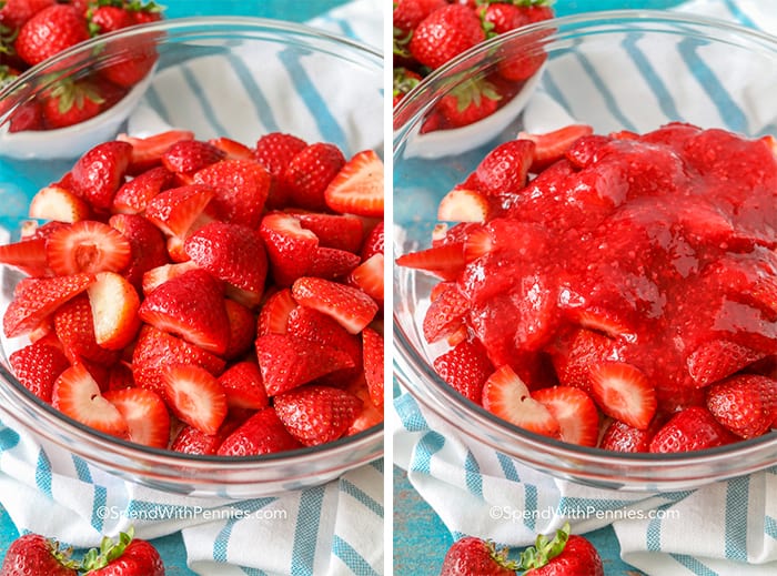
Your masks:
{"label": "white and blue striped towel under the bowl without sauce", "polygon": [[[381,48],[381,8],[377,0],[357,0],[310,24]],[[261,71],[282,74],[279,87],[293,83],[301,74],[315,77],[306,62],[283,53],[280,58],[272,69],[265,65]],[[291,108],[305,113],[305,99],[315,98],[311,92],[291,102],[281,92],[260,92],[251,78],[259,73],[255,65],[268,62],[233,60],[229,64],[231,77],[226,78],[225,71],[225,78],[215,82],[204,81],[195,65],[159,74],[145,98],[160,101],[163,115],[152,118],[149,108],[141,107],[130,119],[128,132],[138,133],[141,128],[158,132],[165,125],[176,125],[179,109],[163,101],[158,82],[178,82],[179,90],[199,90],[202,124],[192,128],[200,138],[224,132],[240,138],[243,132],[235,127],[245,130],[243,127],[253,124],[244,141],[255,141],[262,130],[283,125],[282,114],[290,113]],[[344,81],[346,89],[341,90],[342,99],[332,107],[376,107],[374,124],[357,128],[360,137],[354,148],[382,145],[382,94],[371,92],[367,98],[359,92],[362,87],[350,84],[351,79],[325,78],[321,82],[335,80]],[[234,99],[232,108],[228,107],[234,112],[231,117],[213,105],[223,95],[221,89]],[[354,103],[354,98],[361,101]],[[309,117],[310,131],[300,135],[309,141],[344,144],[342,134],[352,127],[333,122],[334,114]],[[356,151],[344,150],[346,154]],[[204,576],[383,574],[383,459],[379,459],[325,485],[278,497],[233,501],[175,495],[125,482],[59,446],[41,444],[0,424],[0,503],[21,533],[54,536],[82,548],[97,546],[101,534],[117,535],[129,525],[134,525],[142,538],[180,530],[189,566]]]}

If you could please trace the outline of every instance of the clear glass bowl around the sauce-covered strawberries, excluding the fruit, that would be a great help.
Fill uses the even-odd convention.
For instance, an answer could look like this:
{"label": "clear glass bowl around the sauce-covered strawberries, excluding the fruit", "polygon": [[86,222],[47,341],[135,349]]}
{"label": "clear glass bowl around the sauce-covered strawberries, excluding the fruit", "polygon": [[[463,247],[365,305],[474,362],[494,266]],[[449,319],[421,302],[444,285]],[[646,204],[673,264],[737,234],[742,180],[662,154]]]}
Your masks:
{"label": "clear glass bowl around the sauce-covered strawberries, excluding the fruit", "polygon": [[[481,129],[476,138],[458,130],[424,133],[425,119],[446,93],[487,77],[501,60],[521,51],[546,59],[539,78],[516,95],[522,104],[511,118],[498,127],[467,127]],[[395,109],[395,256],[428,247],[443,195],[464,182],[490,150],[522,130],[543,133],[576,122],[606,134],[684,121],[761,137],[777,132],[777,113],[767,97],[775,89],[777,39],[712,19],[609,11],[496,37],[435,71]],[[565,444],[493,416],[432,367],[441,351],[424,341],[422,322],[434,284],[424,273],[395,266],[395,376],[422,410],[463,442],[488,446],[556,477],[635,491],[690,488],[777,464],[774,431],[695,453],[629,455]]]}

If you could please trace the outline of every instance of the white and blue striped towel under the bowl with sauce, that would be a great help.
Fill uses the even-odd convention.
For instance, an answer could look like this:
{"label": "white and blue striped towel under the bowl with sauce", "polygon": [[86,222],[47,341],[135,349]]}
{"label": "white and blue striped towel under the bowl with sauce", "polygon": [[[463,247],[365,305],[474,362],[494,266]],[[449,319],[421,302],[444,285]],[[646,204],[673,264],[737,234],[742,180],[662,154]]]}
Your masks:
{"label": "white and blue striped towel under the bowl with sauce", "polygon": [[[678,10],[777,33],[777,10],[769,0],[695,0]],[[733,67],[723,82],[706,62],[725,62],[726,49],[677,40],[667,41],[662,54],[647,54],[643,42],[638,30],[624,34],[618,48],[608,51],[608,65],[594,67],[571,41],[553,71],[545,70],[523,112],[526,130],[543,132],[573,122],[584,105],[586,120],[594,110],[593,124],[604,132],[646,131],[685,120],[777,133],[774,74],[764,74],[757,62]],[[616,95],[609,87],[624,78],[632,93],[619,90]],[[740,94],[734,92],[731,78],[748,79],[744,98],[734,98]],[[710,97],[724,83],[730,91],[715,90]],[[680,117],[678,109],[687,115]],[[404,218],[403,210],[395,206],[395,215]],[[405,214],[408,225],[420,225],[412,212]],[[463,438],[406,392],[395,398],[394,410],[395,462],[454,538],[472,534],[525,546],[536,533],[551,533],[565,521],[578,533],[613,525],[623,559],[650,576],[777,574],[777,467],[692,491],[593,488],[536,472]]]}

